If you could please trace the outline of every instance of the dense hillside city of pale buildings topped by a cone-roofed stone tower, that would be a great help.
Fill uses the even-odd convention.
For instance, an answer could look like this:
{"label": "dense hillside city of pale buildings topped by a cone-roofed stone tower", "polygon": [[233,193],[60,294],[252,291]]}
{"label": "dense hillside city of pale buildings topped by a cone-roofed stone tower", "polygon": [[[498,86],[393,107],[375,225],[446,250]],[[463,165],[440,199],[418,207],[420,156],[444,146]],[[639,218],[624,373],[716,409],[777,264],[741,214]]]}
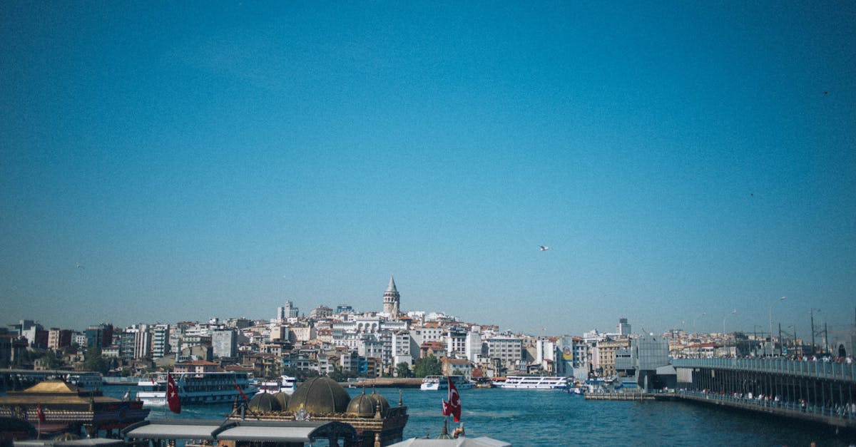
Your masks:
{"label": "dense hillside city of pale buildings topped by a cone-roofed stone tower", "polygon": [[806,345],[781,330],[772,337],[769,331],[698,334],[683,329],[633,334],[628,320],[620,318],[614,332],[532,336],[441,312],[401,312],[400,302],[390,276],[382,312],[319,305],[306,316],[293,301],[286,301],[270,320],[212,318],[124,328],[101,323],[82,332],[45,329],[34,320],[21,320],[0,329],[0,367],[137,376],[177,371],[179,363],[205,371],[247,371],[259,378],[326,375],[338,381],[440,373],[590,378],[633,375],[639,346],[663,365],[669,358],[783,355],[817,360],[830,352],[823,330],[812,334]]}

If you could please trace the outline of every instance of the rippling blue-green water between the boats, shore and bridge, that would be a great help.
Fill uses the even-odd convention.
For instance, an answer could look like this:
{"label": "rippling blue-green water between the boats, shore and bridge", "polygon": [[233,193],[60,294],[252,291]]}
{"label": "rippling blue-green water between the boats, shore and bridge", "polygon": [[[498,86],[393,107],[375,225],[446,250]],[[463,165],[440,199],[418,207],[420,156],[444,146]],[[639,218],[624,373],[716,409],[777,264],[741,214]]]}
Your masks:
{"label": "rippling blue-green water between the boats, shore and bridge", "polygon": [[[122,396],[124,391],[106,387],[105,394]],[[362,390],[348,392],[355,396]],[[399,390],[377,392],[397,404]],[[445,391],[401,390],[410,414],[404,438],[436,437],[443,427],[440,400],[445,397]],[[461,405],[468,437],[488,436],[514,446],[856,444],[853,434],[836,435],[833,427],[685,402],[586,401],[557,390],[473,389],[461,390]],[[216,419],[230,410],[230,405],[185,406],[169,417]],[[150,418],[163,416],[163,408],[154,408]]]}

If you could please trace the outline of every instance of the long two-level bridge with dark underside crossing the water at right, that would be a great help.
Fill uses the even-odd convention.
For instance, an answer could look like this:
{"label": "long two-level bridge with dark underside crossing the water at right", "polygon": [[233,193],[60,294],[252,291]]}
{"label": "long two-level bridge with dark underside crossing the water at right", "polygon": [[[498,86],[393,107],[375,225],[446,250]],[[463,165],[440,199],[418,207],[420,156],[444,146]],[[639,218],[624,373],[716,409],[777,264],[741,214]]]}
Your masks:
{"label": "long two-level bridge with dark underside crossing the water at right", "polygon": [[684,400],[856,429],[856,363],[673,359]]}

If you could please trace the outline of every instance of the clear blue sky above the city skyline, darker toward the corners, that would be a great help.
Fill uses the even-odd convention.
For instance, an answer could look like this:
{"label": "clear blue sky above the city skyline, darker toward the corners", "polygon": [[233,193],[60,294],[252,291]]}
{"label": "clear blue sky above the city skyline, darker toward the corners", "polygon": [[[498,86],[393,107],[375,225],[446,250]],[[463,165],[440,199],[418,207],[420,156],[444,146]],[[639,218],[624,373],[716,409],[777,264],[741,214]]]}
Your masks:
{"label": "clear blue sky above the city skyline, darker toward the corners", "polygon": [[9,1],[0,54],[3,325],[390,272],[531,333],[853,324],[853,2]]}

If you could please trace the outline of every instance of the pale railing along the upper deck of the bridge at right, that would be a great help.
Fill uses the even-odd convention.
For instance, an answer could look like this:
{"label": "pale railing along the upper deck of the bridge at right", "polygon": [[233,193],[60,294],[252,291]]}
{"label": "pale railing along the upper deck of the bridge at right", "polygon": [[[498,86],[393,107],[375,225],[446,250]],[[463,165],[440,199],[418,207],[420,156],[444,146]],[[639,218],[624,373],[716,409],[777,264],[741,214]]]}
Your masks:
{"label": "pale railing along the upper deck of the bridge at right", "polygon": [[716,368],[856,382],[856,363],[788,359],[672,359],[673,367]]}

